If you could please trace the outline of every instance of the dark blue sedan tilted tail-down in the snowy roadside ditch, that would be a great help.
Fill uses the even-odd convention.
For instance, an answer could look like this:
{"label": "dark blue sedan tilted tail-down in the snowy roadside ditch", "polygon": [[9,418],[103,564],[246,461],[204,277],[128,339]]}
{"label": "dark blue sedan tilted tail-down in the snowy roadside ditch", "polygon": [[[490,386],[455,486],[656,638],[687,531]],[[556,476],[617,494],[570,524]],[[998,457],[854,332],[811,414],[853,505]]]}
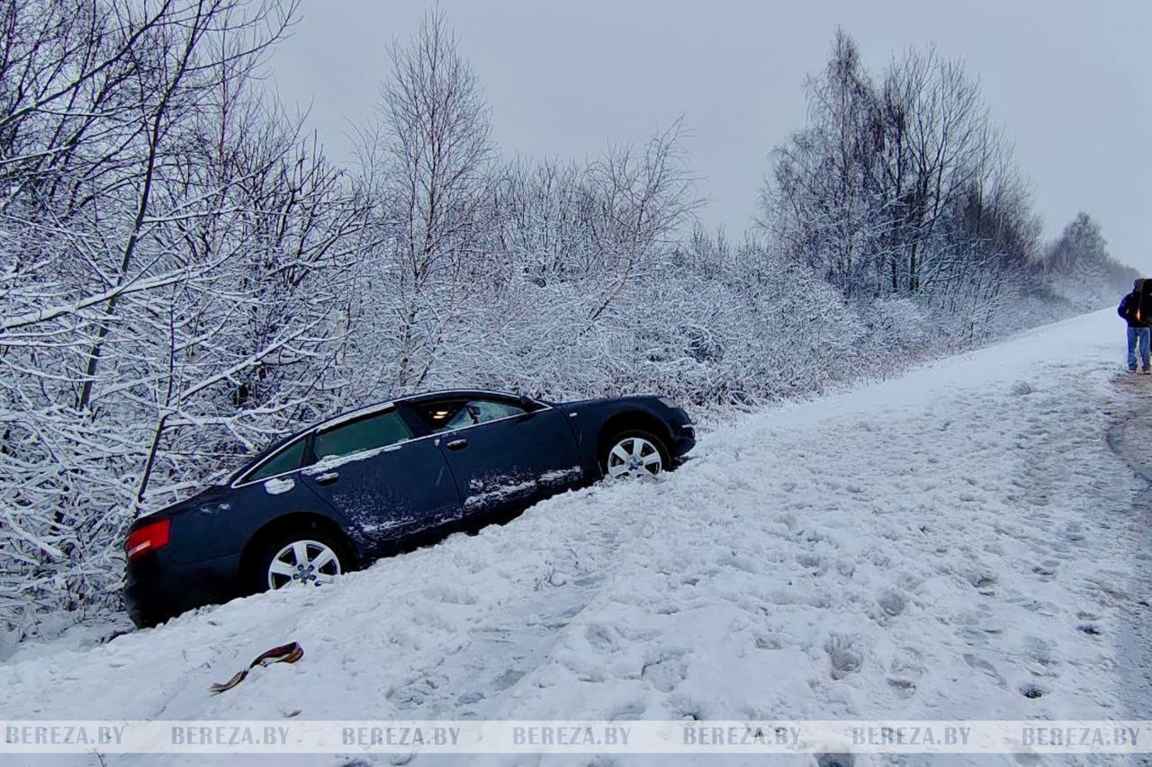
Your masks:
{"label": "dark blue sedan tilted tail-down in the snowy roadside ditch", "polygon": [[662,397],[554,403],[458,389],[393,400],[285,439],[222,485],[137,519],[132,621],[312,586],[602,477],[659,474],[696,445]]}

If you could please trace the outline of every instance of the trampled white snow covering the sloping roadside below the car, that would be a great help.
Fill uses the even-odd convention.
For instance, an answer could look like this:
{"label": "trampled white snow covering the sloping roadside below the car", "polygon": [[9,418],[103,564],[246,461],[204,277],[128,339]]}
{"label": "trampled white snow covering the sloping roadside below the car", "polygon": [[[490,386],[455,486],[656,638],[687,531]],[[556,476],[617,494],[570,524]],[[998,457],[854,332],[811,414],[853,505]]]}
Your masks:
{"label": "trampled white snow covering the sloping roadside below the car", "polygon": [[[566,493],[331,587],[18,648],[0,719],[1143,719],[1147,483],[1115,450],[1152,378],[1121,372],[1122,343],[1089,314],[749,417],[654,481]],[[298,663],[209,693],[289,640]],[[600,764],[414,760],[432,762]]]}

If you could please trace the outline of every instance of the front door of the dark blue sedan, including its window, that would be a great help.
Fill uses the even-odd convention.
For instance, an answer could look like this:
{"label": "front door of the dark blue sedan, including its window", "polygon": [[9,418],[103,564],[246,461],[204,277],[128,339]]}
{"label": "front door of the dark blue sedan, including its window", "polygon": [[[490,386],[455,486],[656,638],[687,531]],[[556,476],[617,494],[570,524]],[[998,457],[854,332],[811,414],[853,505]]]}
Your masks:
{"label": "front door of the dark blue sedan, including its window", "polygon": [[435,435],[465,517],[532,502],[579,481],[571,430],[547,405],[477,395],[410,407]]}

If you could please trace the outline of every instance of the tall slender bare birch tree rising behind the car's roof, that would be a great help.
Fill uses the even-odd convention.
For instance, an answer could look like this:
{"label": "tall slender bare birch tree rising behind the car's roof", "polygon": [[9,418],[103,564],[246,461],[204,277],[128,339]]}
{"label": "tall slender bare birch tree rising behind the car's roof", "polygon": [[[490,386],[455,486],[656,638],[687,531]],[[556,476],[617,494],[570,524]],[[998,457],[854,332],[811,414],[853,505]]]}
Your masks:
{"label": "tall slender bare birch tree rising behind the car's roof", "polygon": [[393,46],[392,66],[361,147],[376,204],[369,296],[395,355],[378,360],[392,367],[381,378],[411,389],[479,288],[493,145],[488,108],[441,12]]}

